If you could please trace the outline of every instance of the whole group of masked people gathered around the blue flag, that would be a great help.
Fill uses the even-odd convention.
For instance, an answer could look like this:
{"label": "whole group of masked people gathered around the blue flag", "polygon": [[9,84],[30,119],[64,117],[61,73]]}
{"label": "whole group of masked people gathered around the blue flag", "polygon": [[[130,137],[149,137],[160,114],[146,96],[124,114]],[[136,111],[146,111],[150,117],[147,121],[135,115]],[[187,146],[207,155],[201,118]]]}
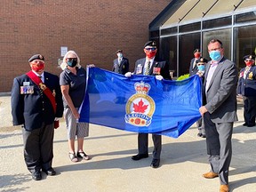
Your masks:
{"label": "whole group of masked people gathered around the blue flag", "polygon": [[[145,57],[135,62],[134,71],[129,72],[129,60],[124,58],[123,51],[116,52],[113,71],[130,77],[133,74],[143,76],[156,76],[156,79],[171,80],[169,68],[165,61],[156,61],[156,42],[149,41],[144,44]],[[198,121],[198,136],[206,137],[207,154],[211,165],[210,172],[203,174],[206,179],[220,178],[220,192],[229,191],[228,167],[232,156],[231,137],[236,116],[236,84],[238,71],[236,64],[224,57],[223,44],[218,39],[212,39],[208,44],[211,60],[207,62],[201,57],[198,49],[194,52],[195,60],[191,60],[190,76],[197,74],[203,80],[204,86],[203,106],[199,108],[202,115]],[[251,59],[251,61],[249,60]],[[248,66],[252,57],[245,58]],[[254,59],[253,59],[254,60]],[[63,58],[58,76],[44,71],[44,56],[33,55],[29,60],[31,70],[22,76],[14,78],[12,86],[12,118],[13,125],[22,125],[24,140],[24,158],[28,171],[32,173],[33,180],[41,180],[41,170],[48,175],[55,175],[52,168],[52,143],[54,135],[54,121],[64,118],[68,129],[68,156],[72,162],[78,158],[89,160],[84,153],[84,137],[89,134],[87,123],[78,123],[78,108],[84,99],[86,87],[86,71],[80,65],[76,52],[68,51]],[[207,63],[207,64],[206,64]],[[246,71],[246,72],[245,72]],[[254,79],[256,68],[241,71],[239,84],[242,90],[246,81]],[[245,76],[245,77],[244,77]],[[247,76],[247,77],[246,77]],[[240,82],[241,81],[241,82]],[[24,92],[24,90],[32,90]],[[246,126],[255,125],[255,113],[248,116],[248,111],[255,111],[255,101],[251,93],[244,95],[244,119]],[[200,123],[201,122],[201,123]],[[203,122],[203,123],[202,123]],[[55,126],[55,128],[57,128]],[[77,137],[77,150],[75,140]],[[162,150],[161,135],[152,134],[154,143],[151,167],[160,165]],[[148,157],[148,133],[138,133],[138,154],[132,160],[138,161]]]}

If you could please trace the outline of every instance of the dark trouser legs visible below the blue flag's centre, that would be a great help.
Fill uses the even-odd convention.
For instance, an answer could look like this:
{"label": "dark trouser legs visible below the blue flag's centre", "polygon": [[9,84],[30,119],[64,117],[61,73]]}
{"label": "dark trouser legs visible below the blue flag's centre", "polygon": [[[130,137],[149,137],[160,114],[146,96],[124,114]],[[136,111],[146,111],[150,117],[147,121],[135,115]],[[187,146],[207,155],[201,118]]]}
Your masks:
{"label": "dark trouser legs visible below the blue flag's centre", "polygon": [[[154,143],[153,159],[160,159],[162,150],[162,136],[152,134],[152,140]],[[139,154],[148,154],[148,133],[138,134],[138,148]]]}

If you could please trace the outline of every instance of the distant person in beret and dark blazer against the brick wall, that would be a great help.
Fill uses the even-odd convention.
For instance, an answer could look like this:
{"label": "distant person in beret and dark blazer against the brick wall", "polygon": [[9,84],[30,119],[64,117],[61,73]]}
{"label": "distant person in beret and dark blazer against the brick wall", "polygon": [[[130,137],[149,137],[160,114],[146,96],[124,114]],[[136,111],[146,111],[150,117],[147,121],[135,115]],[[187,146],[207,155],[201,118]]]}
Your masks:
{"label": "distant person in beret and dark blazer against the brick wall", "polygon": [[117,58],[113,60],[112,71],[124,75],[129,71],[129,60],[124,58],[123,50],[116,51]]}

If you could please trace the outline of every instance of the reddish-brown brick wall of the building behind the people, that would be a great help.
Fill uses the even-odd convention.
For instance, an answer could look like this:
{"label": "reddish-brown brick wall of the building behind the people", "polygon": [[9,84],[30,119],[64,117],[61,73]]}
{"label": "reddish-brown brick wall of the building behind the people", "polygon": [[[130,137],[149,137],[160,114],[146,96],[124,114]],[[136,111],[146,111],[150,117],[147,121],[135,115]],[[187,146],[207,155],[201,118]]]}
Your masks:
{"label": "reddish-brown brick wall of the building behind the people", "polygon": [[74,50],[82,66],[111,69],[116,50],[131,62],[144,57],[148,24],[169,0],[1,0],[0,92],[30,68],[28,58],[45,57],[45,70],[59,75],[60,47]]}

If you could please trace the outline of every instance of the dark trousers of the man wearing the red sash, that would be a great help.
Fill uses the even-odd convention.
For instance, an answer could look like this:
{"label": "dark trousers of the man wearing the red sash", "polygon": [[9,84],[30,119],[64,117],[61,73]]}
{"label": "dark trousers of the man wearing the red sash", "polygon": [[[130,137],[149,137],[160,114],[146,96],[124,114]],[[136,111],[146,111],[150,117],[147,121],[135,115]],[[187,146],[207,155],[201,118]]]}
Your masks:
{"label": "dark trousers of the man wearing the red sash", "polygon": [[48,170],[52,167],[54,126],[42,124],[42,127],[31,132],[22,129],[24,158],[29,172]]}

